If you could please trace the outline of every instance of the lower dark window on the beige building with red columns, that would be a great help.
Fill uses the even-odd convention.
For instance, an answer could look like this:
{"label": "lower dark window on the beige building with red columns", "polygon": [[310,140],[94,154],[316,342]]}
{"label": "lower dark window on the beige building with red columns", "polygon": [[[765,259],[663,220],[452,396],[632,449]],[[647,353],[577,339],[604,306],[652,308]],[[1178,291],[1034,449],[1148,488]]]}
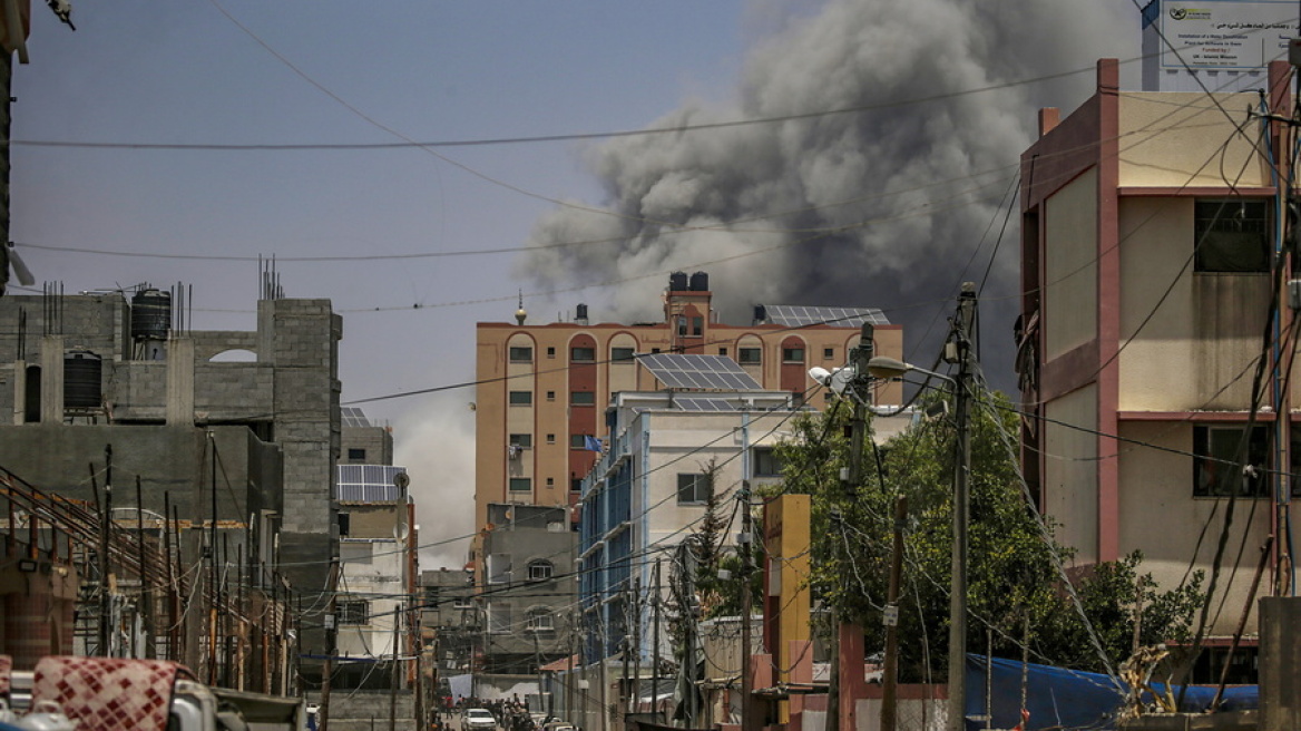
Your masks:
{"label": "lower dark window on the beige building with red columns", "polygon": [[1246,467],[1240,468],[1239,444],[1245,427],[1193,427],[1194,497],[1265,497],[1268,466],[1268,427],[1252,427]]}

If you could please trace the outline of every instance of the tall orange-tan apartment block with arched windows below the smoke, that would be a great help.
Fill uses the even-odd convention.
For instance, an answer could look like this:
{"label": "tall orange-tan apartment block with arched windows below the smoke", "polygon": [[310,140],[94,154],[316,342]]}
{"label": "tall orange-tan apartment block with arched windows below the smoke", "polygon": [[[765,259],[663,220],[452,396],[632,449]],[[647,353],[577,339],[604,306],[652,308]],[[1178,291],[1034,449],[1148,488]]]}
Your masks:
{"label": "tall orange-tan apartment block with arched windows below the smoke", "polygon": [[[654,323],[591,323],[585,306],[574,321],[527,324],[523,307],[511,323],[477,325],[475,524],[483,528],[489,503],[574,506],[582,479],[598,453],[589,449],[605,427],[611,394],[656,390],[639,367],[654,352],[721,355],[740,364],[765,389],[801,403],[812,381],[808,368],[847,362],[861,325],[876,325],[877,352],[899,358],[903,332],[879,310],[755,306],[751,323],[718,321],[709,277],[675,273]],[[882,403],[899,403],[889,384]],[[813,403],[821,406],[821,403]],[[578,514],[571,515],[578,520]],[[479,567],[480,549],[472,550]]]}

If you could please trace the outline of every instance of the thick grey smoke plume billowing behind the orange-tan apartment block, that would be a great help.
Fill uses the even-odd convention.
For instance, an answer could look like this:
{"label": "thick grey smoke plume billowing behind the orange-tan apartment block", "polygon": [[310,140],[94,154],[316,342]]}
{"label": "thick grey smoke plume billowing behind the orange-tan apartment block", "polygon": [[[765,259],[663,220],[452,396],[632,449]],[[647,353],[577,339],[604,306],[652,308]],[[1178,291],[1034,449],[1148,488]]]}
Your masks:
{"label": "thick grey smoke plume billowing behind the orange-tan apartment block", "polygon": [[1010,388],[1020,234],[1013,211],[990,264],[1000,199],[1038,108],[1069,112],[1094,75],[1015,82],[1133,56],[1137,29],[1123,0],[805,7],[752,46],[734,100],[688,103],[648,127],[876,108],[596,144],[587,163],[614,216],[557,208],[531,246],[615,242],[531,248],[516,273],[541,290],[619,281],[596,321],[658,319],[673,269],[709,272],[729,323],[755,303],[881,307],[905,325],[908,358],[929,363],[959,284],[990,267],[982,359]]}

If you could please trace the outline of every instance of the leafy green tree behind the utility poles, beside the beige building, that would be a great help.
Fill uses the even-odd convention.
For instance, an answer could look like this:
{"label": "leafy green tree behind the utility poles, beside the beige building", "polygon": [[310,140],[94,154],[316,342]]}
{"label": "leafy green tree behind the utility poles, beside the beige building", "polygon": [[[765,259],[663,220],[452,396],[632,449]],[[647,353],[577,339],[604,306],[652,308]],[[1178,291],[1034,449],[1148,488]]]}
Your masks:
{"label": "leafy green tree behind the utility poles, beside the beige building", "polygon": [[[928,406],[938,406],[934,397]],[[1158,591],[1140,575],[1141,557],[1099,565],[1076,588],[1081,618],[1063,591],[1059,566],[1071,552],[1055,542],[1029,502],[1017,472],[1017,416],[1000,394],[972,410],[971,528],[968,566],[969,652],[1030,659],[1081,670],[1115,667],[1133,644],[1136,597],[1142,596],[1144,641],[1187,636],[1201,600],[1200,581]],[[844,485],[850,429],[847,405],[801,415],[794,436],[778,447],[783,492],[813,501],[809,579],[814,601],[859,623],[869,652],[883,646],[881,623],[889,580],[894,501],[908,498],[904,580],[899,601],[900,672],[904,680],[942,679],[947,667],[948,585],[952,546],[955,424],[943,416],[921,421],[874,449],[863,445],[864,481]],[[1090,628],[1107,656],[1095,652]]]}

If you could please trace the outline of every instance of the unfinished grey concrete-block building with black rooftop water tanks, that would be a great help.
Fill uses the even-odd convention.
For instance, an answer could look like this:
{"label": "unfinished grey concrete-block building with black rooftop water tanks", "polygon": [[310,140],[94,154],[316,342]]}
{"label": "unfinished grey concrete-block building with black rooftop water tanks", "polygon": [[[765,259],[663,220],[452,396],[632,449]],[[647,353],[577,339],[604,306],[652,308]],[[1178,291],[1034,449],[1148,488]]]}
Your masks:
{"label": "unfinished grey concrete-block building with black rooftop water tanks", "polygon": [[[114,509],[178,519],[183,563],[306,610],[338,555],[342,320],[327,299],[264,295],[251,332],[176,326],[172,293],[147,287],[0,299],[0,467],[90,506],[112,484]],[[294,654],[323,656],[325,624],[307,613]]]}

